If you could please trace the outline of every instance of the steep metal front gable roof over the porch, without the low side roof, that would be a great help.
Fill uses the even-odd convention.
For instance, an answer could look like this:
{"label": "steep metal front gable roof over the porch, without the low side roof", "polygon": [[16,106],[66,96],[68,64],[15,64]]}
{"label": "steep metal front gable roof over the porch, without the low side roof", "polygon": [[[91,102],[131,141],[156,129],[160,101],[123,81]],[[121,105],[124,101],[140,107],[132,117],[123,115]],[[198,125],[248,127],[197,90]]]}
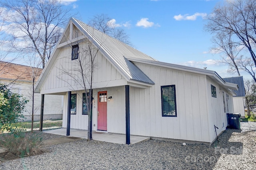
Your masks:
{"label": "steep metal front gable roof over the porch, without the low side roof", "polygon": [[[124,56],[130,56],[133,58],[145,58],[148,60],[156,59],[74,18],[70,19],[64,31],[64,34],[68,30],[70,24],[74,24],[74,26],[76,26],[80,30],[80,32],[83,33],[83,38],[90,39],[93,42],[93,44],[100,49],[100,52],[106,57],[106,59],[120,72],[120,74],[128,82],[136,82],[138,84],[143,83],[148,84],[149,86],[154,84],[154,82],[146,74],[144,74],[142,70],[140,70],[129,60],[126,60]],[[39,78],[40,80],[36,84],[35,92],[40,92],[39,89],[42,86],[44,80],[47,77],[47,74],[50,72],[50,69],[54,64],[52,60],[55,60],[57,58],[58,53],[60,52],[60,49],[62,47],[68,45],[66,41],[62,42],[62,39],[64,39],[64,34],[62,34],[62,37],[58,41],[58,44],[54,49],[53,55],[51,55],[51,58],[46,63],[46,66]]]}

